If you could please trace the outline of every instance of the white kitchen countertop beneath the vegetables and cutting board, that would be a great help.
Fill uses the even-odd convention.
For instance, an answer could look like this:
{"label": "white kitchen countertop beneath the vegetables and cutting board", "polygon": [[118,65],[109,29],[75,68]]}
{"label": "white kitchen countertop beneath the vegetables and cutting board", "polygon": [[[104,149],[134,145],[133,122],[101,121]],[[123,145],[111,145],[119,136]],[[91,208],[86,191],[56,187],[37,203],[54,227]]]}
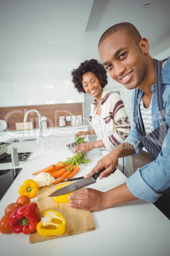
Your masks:
{"label": "white kitchen countertop beneath the vegetables and cutting board", "polygon": [[[2,136],[1,136],[2,137]],[[0,201],[1,213],[8,204],[15,203],[18,198],[18,188],[23,181],[34,178],[32,173],[59,160],[72,157],[73,153],[67,149],[67,143],[74,141],[74,134],[52,134],[37,141],[12,143],[19,151],[32,151],[27,162],[21,162],[22,171],[13,181],[4,197]],[[89,173],[102,155],[98,150],[92,150],[87,156],[91,162],[87,166],[81,165],[81,170],[76,176]],[[10,164],[0,164],[0,169],[9,169]],[[126,182],[127,178],[117,169],[114,174],[89,187],[106,191]],[[31,199],[37,202],[37,197]],[[41,243],[30,244],[29,234],[1,234],[0,250],[2,256],[20,255],[58,255],[58,256],[169,256],[170,255],[170,222],[154,206],[142,200],[109,208],[104,211],[93,212],[95,231],[58,238]]]}

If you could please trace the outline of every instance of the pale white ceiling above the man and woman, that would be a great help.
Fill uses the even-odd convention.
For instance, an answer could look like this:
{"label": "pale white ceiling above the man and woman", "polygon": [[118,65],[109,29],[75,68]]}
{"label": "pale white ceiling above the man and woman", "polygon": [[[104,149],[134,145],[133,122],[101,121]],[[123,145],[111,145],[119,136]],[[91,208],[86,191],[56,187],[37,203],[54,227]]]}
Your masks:
{"label": "pale white ceiling above the man and woman", "polygon": [[0,0],[0,63],[99,59],[98,40],[111,25],[131,22],[151,55],[170,47],[170,1]]}

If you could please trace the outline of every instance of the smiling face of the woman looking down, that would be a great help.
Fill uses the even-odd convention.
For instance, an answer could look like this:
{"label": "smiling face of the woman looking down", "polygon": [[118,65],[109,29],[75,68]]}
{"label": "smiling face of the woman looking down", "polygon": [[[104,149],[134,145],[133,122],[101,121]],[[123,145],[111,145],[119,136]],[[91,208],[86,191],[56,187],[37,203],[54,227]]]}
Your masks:
{"label": "smiling face of the woman looking down", "polygon": [[82,75],[82,87],[85,92],[95,98],[101,98],[103,88],[100,85],[100,81],[97,76],[92,72],[87,72]]}

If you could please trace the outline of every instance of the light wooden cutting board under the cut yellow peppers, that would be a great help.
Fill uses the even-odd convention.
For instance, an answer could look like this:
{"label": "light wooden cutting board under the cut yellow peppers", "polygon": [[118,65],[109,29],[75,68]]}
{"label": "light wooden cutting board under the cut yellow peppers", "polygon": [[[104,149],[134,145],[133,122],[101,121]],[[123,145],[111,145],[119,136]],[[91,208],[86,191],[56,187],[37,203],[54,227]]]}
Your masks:
{"label": "light wooden cutting board under the cut yellow peppers", "polygon": [[37,204],[41,211],[41,216],[46,210],[54,210],[61,213],[66,220],[65,232],[60,236],[41,236],[37,231],[34,231],[30,233],[30,243],[39,243],[95,230],[91,211],[70,208],[69,203],[56,203],[53,201],[53,197],[48,197],[49,194],[56,190],[58,185],[60,184],[52,184],[49,187],[40,188]]}

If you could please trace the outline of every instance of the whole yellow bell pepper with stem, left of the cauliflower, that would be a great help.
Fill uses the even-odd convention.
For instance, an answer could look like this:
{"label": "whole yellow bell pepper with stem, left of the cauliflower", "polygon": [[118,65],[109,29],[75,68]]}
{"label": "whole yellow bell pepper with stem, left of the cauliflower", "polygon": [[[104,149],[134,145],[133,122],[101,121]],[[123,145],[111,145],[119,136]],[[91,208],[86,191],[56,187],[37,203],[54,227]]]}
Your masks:
{"label": "whole yellow bell pepper with stem, left of the cauliflower", "polygon": [[38,185],[35,180],[25,180],[18,192],[20,196],[26,195],[30,198],[36,197],[38,193]]}

